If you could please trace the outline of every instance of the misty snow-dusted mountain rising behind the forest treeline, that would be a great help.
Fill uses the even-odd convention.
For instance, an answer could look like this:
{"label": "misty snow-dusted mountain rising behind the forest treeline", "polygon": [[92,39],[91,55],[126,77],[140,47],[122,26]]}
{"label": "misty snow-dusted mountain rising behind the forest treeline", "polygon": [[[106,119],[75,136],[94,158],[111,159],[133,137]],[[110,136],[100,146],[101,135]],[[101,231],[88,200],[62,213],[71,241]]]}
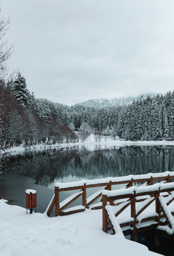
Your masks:
{"label": "misty snow-dusted mountain rising behind the forest treeline", "polygon": [[84,101],[81,103],[77,103],[74,106],[85,106],[85,107],[95,107],[95,108],[101,108],[101,107],[112,107],[112,106],[124,106],[129,103],[132,103],[133,100],[139,101],[146,99],[147,96],[150,96],[151,98],[154,98],[157,96],[157,94],[142,94],[138,97],[124,97],[124,98],[118,98],[118,99],[91,99],[88,101]]}

